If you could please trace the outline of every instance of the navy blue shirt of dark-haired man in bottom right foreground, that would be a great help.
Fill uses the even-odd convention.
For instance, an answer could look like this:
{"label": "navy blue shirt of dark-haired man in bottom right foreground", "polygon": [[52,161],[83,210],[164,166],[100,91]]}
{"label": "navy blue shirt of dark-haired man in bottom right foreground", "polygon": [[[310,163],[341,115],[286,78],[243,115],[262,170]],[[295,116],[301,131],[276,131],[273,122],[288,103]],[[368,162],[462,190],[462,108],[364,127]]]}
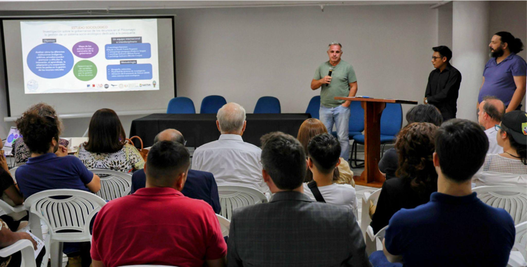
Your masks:
{"label": "navy blue shirt of dark-haired man in bottom right foreground", "polygon": [[503,209],[468,196],[433,193],[430,202],[396,212],[386,250],[412,266],[507,266],[514,221]]}

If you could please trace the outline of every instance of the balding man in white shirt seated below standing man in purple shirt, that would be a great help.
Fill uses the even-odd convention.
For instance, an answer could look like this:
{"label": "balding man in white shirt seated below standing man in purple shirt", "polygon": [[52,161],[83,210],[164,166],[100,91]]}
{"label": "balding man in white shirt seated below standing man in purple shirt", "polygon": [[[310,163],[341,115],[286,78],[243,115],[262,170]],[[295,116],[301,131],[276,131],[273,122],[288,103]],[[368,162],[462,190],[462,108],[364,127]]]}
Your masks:
{"label": "balding man in white shirt seated below standing man in purple shirt", "polygon": [[498,145],[496,140],[495,125],[500,124],[501,118],[505,115],[505,104],[496,96],[485,96],[477,110],[477,121],[485,128],[485,134],[489,138],[489,151],[487,154],[501,154],[503,147]]}

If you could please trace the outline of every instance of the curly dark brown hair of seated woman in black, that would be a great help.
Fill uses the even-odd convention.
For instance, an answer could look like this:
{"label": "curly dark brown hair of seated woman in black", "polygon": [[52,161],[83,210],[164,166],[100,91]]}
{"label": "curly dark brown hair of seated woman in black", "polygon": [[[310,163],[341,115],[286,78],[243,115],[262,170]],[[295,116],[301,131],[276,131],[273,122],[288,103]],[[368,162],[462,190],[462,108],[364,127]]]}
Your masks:
{"label": "curly dark brown hair of seated woman in black", "polygon": [[428,198],[437,191],[438,175],[432,160],[437,129],[429,122],[414,122],[399,132],[395,143],[399,154],[396,175],[408,180],[422,198]]}

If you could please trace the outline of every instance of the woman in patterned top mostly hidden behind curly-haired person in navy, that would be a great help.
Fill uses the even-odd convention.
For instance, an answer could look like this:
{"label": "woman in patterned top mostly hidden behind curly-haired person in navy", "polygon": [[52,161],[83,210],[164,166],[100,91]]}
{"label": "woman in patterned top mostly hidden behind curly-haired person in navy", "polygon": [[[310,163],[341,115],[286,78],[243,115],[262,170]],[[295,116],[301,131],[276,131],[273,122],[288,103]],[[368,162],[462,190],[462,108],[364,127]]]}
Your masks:
{"label": "woman in patterned top mostly hidden behind curly-haired person in navy", "polygon": [[[54,108],[52,108],[52,106],[50,105],[47,105],[46,103],[35,104],[29,107],[26,112],[36,112],[40,116],[58,117],[57,112],[55,112]],[[62,129],[62,122],[60,119],[57,120],[57,123],[59,124],[59,129]],[[64,147],[67,147],[68,141],[60,139],[59,144],[64,145]],[[15,166],[22,166],[26,164],[27,159],[31,157],[31,152],[29,152],[29,148],[24,143],[23,138],[17,138],[17,140],[15,140],[15,143],[13,143],[13,150],[11,151],[11,154],[15,156]]]}

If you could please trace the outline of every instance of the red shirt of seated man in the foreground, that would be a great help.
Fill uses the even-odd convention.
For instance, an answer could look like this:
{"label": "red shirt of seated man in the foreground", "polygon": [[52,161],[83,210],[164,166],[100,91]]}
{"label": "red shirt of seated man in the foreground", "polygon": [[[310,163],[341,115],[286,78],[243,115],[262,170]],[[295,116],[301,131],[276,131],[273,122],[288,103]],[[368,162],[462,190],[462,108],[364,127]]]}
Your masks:
{"label": "red shirt of seated man in the foreground", "polygon": [[225,254],[211,206],[172,188],[143,188],[110,201],[94,222],[91,258],[106,267],[202,266]]}

